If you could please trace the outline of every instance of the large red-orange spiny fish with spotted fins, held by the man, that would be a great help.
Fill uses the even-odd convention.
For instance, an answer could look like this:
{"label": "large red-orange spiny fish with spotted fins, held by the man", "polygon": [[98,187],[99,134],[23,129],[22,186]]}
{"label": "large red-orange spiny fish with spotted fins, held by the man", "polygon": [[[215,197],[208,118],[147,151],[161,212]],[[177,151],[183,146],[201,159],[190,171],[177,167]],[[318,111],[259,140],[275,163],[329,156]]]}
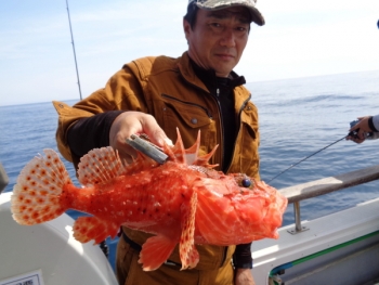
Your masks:
{"label": "large red-orange spiny fish with spotted fins, held by the man", "polygon": [[[200,144],[184,150],[178,131],[169,159],[159,165],[139,153],[123,165],[112,147],[83,156],[73,184],[52,150],[22,170],[13,189],[13,218],[21,224],[52,220],[67,209],[92,215],[74,224],[81,243],[115,237],[120,225],[155,234],[142,246],[139,262],[145,271],[159,268],[180,244],[182,269],[196,267],[195,244],[235,245],[277,238],[287,199],[264,182],[227,174],[208,165],[211,153],[197,156]],[[250,183],[251,182],[251,183]],[[245,185],[245,186],[244,186]]]}

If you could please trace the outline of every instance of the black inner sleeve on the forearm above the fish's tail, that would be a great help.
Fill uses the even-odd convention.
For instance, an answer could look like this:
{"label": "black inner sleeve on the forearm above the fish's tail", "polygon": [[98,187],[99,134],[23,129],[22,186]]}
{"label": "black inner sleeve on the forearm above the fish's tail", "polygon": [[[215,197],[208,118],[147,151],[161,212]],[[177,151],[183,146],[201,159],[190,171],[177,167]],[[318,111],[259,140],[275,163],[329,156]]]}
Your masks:
{"label": "black inner sleeve on the forearm above the fish's tail", "polygon": [[109,111],[79,119],[68,129],[67,142],[73,154],[83,156],[89,151],[109,145],[112,124],[125,111]]}

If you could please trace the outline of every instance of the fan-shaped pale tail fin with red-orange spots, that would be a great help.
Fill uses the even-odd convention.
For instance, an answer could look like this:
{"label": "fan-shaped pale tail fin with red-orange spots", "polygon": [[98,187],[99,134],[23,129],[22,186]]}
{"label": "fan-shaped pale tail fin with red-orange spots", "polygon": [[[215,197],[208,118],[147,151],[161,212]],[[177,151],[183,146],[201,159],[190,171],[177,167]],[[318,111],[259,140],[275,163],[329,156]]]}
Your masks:
{"label": "fan-shaped pale tail fin with red-orange spots", "polygon": [[73,184],[64,164],[53,150],[43,150],[45,157],[36,156],[21,171],[13,187],[11,211],[19,224],[36,224],[61,216],[60,194]]}

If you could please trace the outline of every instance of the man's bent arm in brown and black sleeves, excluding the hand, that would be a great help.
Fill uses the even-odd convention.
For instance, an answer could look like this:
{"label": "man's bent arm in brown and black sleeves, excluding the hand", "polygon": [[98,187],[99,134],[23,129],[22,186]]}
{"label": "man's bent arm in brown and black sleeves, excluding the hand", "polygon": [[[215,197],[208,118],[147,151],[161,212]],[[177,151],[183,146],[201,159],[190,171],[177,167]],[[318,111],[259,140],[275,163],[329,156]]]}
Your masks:
{"label": "man's bent arm in brown and black sleeves, excluding the hand", "polygon": [[74,106],[63,102],[53,104],[58,113],[57,147],[75,165],[91,147],[108,145],[112,122],[121,112],[147,112],[141,83],[128,65],[116,73],[105,88]]}

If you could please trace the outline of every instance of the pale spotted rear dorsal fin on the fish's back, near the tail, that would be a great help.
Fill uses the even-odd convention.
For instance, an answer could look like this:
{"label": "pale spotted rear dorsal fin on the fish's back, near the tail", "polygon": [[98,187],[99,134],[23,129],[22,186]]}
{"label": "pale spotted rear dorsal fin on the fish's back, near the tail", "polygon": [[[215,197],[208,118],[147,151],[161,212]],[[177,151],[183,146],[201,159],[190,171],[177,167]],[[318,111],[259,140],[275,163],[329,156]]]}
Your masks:
{"label": "pale spotted rear dorsal fin on the fish's back, near the tail", "polygon": [[94,148],[80,158],[78,181],[86,186],[104,183],[125,172],[117,151],[112,146]]}

